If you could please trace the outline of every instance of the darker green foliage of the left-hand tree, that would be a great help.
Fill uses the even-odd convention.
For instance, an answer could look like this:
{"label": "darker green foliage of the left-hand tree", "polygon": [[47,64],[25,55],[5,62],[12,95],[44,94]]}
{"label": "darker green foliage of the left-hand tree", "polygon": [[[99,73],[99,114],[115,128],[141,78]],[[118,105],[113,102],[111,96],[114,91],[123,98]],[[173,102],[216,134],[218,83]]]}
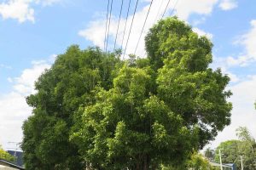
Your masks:
{"label": "darker green foliage of the left-hand tree", "polygon": [[97,85],[112,86],[112,70],[119,62],[98,48],[67,49],[36,82],[38,93],[27,98],[33,115],[24,123],[22,149],[27,169],[81,169],[78,147],[69,142],[80,105],[94,103]]}

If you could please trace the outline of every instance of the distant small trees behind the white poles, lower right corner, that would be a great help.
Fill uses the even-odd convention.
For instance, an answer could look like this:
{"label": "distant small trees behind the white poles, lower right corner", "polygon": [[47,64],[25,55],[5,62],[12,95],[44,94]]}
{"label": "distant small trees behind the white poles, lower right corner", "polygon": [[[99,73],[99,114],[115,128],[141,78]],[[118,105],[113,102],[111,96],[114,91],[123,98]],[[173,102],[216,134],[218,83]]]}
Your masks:
{"label": "distant small trees behind the white poles, lower right corner", "polygon": [[218,150],[221,149],[224,163],[235,163],[238,170],[241,169],[241,157],[244,170],[256,168],[256,143],[246,127],[236,129],[237,137],[240,140],[228,140],[218,145],[215,152],[215,161],[219,162]]}

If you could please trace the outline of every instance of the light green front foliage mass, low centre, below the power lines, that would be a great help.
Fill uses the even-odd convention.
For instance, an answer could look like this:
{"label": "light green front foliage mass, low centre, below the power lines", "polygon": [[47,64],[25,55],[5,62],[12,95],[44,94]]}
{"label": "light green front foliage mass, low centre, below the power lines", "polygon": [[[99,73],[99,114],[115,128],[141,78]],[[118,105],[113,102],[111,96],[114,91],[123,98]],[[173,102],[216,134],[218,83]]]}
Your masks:
{"label": "light green front foliage mass, low centre, below the power lines", "polygon": [[189,130],[181,116],[150,94],[152,72],[148,67],[124,65],[113,88],[99,89],[96,104],[85,107],[82,127],[72,139],[86,161],[96,162],[96,169],[180,163],[196,146],[196,128]]}

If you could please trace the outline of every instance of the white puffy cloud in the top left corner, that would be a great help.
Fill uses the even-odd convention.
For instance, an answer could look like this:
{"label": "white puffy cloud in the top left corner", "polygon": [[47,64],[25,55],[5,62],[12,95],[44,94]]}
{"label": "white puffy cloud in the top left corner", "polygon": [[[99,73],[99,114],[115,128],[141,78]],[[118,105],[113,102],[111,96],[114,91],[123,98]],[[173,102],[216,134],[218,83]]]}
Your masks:
{"label": "white puffy cloud in the top left corner", "polygon": [[35,21],[33,4],[43,6],[58,3],[61,0],[7,0],[0,3],[0,15],[3,20],[14,19],[20,23],[25,21]]}

